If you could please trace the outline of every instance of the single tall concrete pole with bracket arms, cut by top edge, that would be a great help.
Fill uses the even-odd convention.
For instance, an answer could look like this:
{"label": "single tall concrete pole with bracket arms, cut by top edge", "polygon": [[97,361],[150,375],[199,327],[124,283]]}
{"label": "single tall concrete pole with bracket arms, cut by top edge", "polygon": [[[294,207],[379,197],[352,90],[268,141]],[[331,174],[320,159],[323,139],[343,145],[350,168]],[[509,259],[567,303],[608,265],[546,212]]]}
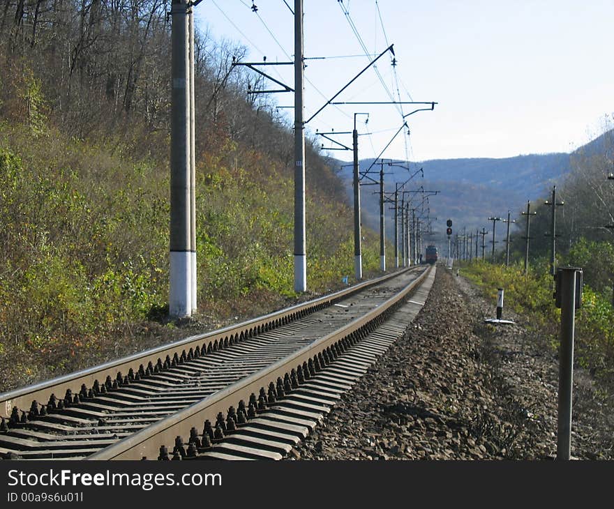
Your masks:
{"label": "single tall concrete pole with bracket arms, cut by top edge", "polygon": [[294,291],[307,290],[303,0],[294,0]]}

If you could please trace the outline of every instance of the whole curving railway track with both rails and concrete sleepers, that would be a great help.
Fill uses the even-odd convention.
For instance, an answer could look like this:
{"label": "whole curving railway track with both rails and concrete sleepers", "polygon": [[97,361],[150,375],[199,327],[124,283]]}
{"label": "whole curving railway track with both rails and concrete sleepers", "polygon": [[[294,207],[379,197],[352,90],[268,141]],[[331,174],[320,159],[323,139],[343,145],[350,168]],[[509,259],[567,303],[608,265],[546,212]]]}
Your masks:
{"label": "whole curving railway track with both rails and concrete sleepers", "polygon": [[407,296],[432,273],[387,275],[2,394],[0,454],[280,459],[403,333],[426,298]]}

